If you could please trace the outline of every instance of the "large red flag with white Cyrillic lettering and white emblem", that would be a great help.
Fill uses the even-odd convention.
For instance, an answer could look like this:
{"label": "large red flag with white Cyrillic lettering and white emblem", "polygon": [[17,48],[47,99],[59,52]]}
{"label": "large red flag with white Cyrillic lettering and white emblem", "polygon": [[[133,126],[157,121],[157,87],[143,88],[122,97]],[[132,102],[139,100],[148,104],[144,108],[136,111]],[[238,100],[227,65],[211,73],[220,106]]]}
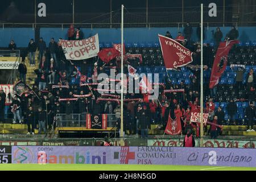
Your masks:
{"label": "large red flag with white Cyrillic lettering and white emblem", "polygon": [[193,61],[192,52],[174,39],[158,34],[166,69],[183,67]]}

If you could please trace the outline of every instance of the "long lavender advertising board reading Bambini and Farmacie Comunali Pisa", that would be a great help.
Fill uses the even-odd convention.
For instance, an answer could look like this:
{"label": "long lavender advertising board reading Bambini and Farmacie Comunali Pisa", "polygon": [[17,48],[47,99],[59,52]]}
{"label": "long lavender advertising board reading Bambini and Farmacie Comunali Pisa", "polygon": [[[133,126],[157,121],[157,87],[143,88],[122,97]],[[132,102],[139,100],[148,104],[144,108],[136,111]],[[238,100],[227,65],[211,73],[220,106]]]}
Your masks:
{"label": "long lavender advertising board reading Bambini and Farmacie Comunali Pisa", "polygon": [[13,146],[12,163],[256,167],[253,148]]}

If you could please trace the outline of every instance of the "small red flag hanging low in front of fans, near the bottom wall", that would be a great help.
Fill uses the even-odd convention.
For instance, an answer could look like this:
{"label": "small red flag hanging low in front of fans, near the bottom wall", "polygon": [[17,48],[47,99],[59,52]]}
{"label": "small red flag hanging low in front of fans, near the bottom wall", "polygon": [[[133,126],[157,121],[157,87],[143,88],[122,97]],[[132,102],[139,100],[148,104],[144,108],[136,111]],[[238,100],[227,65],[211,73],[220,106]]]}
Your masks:
{"label": "small red flag hanging low in front of fans, near the bottom wall", "polygon": [[166,130],[164,130],[164,133],[168,135],[179,135],[181,133],[181,122],[179,115],[177,115],[175,119],[172,119],[169,114]]}

